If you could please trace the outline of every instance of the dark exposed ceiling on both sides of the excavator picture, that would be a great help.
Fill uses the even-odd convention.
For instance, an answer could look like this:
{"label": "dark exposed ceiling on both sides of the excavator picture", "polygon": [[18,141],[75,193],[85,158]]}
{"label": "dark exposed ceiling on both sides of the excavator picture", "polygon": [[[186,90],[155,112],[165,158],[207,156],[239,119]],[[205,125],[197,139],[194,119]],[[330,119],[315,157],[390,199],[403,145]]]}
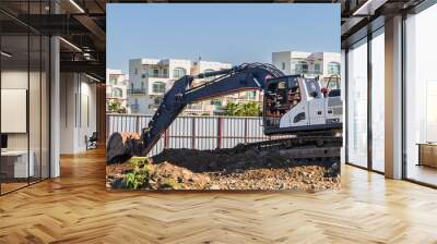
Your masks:
{"label": "dark exposed ceiling on both sides of the excavator picture", "polygon": [[[210,0],[208,2],[220,2]],[[260,0],[256,2],[272,2]],[[234,2],[255,2],[236,0]],[[273,0],[294,3],[341,3],[342,45],[376,19],[408,10],[423,0]],[[20,36],[28,30],[59,35],[61,71],[86,72],[105,80],[106,4],[128,2],[204,2],[200,0],[1,0],[0,24],[3,35]],[[56,14],[55,14],[56,13]],[[365,35],[365,34],[363,34]],[[15,37],[15,39],[20,39]],[[8,37],[7,41],[14,41]],[[17,40],[16,44],[21,41]]]}

